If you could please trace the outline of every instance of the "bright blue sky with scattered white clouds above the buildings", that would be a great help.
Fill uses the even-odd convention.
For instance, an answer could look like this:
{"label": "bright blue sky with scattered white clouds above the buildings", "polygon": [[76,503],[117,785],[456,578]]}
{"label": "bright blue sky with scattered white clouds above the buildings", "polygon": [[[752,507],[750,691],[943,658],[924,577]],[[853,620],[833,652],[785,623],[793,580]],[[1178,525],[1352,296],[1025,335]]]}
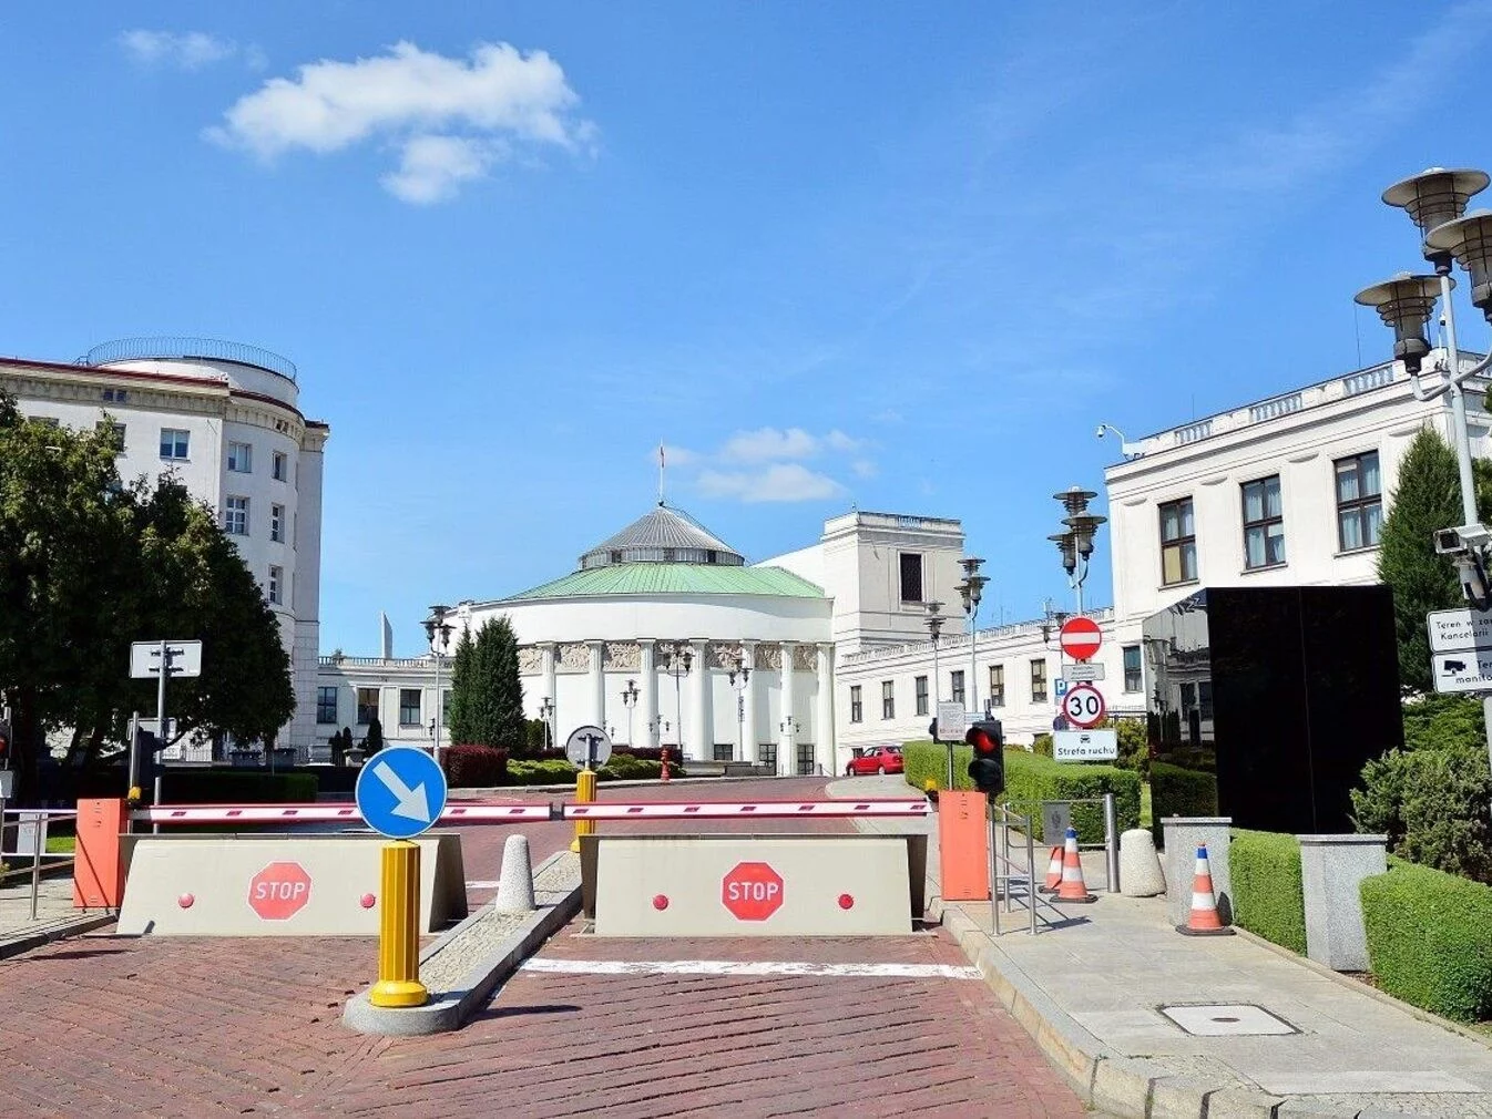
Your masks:
{"label": "bright blue sky with scattered white clouds above the buildings", "polygon": [[1100,422],[1389,357],[1379,194],[1492,164],[1489,48],[1492,0],[10,4],[0,352],[291,358],[325,652],[568,573],[659,445],[749,561],[953,516],[1028,619]]}

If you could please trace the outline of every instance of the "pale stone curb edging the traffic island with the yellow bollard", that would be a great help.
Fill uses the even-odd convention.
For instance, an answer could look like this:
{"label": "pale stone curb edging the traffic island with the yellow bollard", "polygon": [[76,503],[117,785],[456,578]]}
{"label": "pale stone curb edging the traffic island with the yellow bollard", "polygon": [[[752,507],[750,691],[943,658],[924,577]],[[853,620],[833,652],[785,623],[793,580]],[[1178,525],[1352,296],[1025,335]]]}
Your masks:
{"label": "pale stone curb edging the traffic island with the yellow bollard", "polygon": [[[534,868],[537,879],[557,859],[567,856],[568,850],[558,850],[539,867]],[[488,903],[491,904],[491,903]],[[455,928],[443,932],[430,947],[419,953],[421,961],[428,959],[466,928],[480,921],[488,910],[482,906]],[[498,983],[506,980],[518,965],[531,956],[540,944],[558,932],[568,921],[580,912],[580,886],[570,889],[552,906],[542,906],[498,944],[485,959],[471,967],[457,983],[455,989],[442,992],[421,1007],[376,1007],[369,1003],[369,992],[360,991],[348,1000],[342,1012],[342,1024],[361,1034],[382,1034],[383,1037],[421,1037],[425,1034],[443,1034],[460,1029],[485,1003],[491,998]]]}

